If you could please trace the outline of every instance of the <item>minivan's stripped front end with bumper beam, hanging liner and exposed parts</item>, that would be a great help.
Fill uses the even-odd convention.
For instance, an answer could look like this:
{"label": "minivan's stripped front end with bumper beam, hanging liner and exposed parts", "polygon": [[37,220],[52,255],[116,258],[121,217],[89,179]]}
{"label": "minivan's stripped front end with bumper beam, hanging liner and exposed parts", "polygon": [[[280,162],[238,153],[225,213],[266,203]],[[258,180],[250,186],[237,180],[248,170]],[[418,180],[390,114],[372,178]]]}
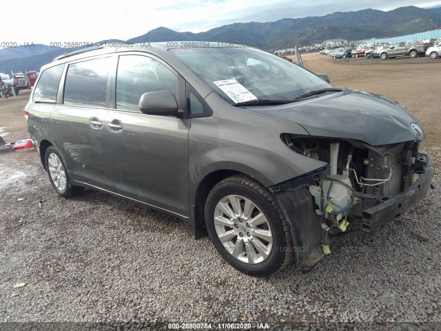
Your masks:
{"label": "minivan's stripped front end with bumper beam, hanging liner and exposed parts", "polygon": [[[293,152],[327,167],[271,187],[285,212],[298,263],[312,268],[345,234],[377,234],[424,197],[433,163],[418,141],[383,146],[349,139],[281,136]],[[355,219],[361,226],[353,228]],[[359,223],[359,222],[358,222]]]}

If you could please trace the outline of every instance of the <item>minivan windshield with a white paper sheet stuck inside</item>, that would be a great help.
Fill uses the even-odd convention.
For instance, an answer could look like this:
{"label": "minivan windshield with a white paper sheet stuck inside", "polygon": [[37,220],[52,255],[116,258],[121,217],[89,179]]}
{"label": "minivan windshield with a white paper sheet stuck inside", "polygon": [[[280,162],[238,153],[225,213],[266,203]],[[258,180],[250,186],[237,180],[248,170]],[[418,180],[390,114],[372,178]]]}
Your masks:
{"label": "minivan windshield with a white paper sheet stuck inside", "polygon": [[169,52],[230,104],[289,101],[332,87],[294,63],[253,48],[174,48]]}

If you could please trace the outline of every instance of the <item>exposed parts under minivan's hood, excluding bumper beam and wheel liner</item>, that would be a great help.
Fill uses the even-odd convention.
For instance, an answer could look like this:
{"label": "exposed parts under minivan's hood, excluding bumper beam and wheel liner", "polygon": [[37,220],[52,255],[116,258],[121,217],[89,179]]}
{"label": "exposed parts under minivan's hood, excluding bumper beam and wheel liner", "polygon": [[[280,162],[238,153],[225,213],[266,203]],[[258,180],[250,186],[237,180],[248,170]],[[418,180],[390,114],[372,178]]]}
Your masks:
{"label": "exposed parts under minivan's hood, excluding bumper beam and wheel liner", "polygon": [[[327,172],[310,177],[312,180],[302,185],[314,201],[317,217],[310,217],[310,221],[320,222],[325,254],[330,252],[332,237],[350,232],[378,233],[384,226],[382,219],[378,217],[378,221],[376,215],[371,217],[369,210],[409,188],[427,165],[427,160],[418,152],[418,141],[369,146],[345,139],[289,134],[281,138],[294,152],[328,163]],[[401,203],[396,208],[399,210]],[[396,218],[400,212],[387,216]],[[354,218],[362,219],[361,228],[349,228]]]}

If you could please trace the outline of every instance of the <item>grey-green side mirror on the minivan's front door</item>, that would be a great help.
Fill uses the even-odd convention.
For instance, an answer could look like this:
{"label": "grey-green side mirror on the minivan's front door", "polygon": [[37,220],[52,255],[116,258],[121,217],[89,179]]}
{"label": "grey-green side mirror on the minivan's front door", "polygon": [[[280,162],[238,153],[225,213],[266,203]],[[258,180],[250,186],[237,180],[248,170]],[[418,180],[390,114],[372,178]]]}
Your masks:
{"label": "grey-green side mirror on the minivan's front door", "polygon": [[178,116],[178,102],[170,91],[147,92],[139,98],[139,110],[147,115]]}

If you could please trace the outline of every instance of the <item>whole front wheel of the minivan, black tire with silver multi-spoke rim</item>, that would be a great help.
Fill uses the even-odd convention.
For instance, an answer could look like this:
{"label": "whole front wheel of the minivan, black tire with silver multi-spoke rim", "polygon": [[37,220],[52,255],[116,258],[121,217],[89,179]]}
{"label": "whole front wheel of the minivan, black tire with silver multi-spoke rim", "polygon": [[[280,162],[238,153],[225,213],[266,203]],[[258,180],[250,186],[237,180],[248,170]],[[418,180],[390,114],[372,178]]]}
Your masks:
{"label": "whole front wheel of the minivan, black tire with silver multi-spoke rim", "polygon": [[293,257],[285,214],[273,195],[248,177],[229,177],[214,186],[205,203],[205,225],[219,254],[245,274],[267,277]]}

